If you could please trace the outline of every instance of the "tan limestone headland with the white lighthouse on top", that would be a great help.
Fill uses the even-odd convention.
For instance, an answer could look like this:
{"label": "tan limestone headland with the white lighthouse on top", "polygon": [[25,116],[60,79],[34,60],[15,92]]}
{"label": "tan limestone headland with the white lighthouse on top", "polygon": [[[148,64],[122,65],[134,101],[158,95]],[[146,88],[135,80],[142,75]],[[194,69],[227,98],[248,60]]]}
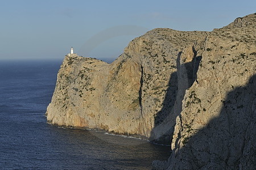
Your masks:
{"label": "tan limestone headland with the white lighthouse on top", "polygon": [[131,41],[111,64],[66,56],[47,108],[48,122],[170,143],[206,35],[154,29]]}

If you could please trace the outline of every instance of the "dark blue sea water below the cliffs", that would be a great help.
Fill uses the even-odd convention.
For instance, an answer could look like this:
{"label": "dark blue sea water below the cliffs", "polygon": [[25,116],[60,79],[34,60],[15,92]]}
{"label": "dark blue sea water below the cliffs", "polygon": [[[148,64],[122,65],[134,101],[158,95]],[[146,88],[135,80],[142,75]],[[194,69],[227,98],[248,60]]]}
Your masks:
{"label": "dark blue sea water below the cliffs", "polygon": [[0,169],[151,169],[170,146],[47,124],[61,61],[0,61]]}

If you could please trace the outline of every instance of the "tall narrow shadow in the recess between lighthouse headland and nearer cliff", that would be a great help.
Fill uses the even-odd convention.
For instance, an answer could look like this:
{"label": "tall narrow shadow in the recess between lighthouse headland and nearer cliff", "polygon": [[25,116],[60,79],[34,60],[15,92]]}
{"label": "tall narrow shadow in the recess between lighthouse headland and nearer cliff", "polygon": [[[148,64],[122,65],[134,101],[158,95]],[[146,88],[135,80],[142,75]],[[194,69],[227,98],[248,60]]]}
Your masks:
{"label": "tall narrow shadow in the recess between lighthouse headland and nearer cliff", "polygon": [[[163,107],[155,116],[155,128],[151,131],[150,141],[156,143],[170,145],[176,117],[181,113],[185,90],[191,87],[193,82],[195,82],[196,73],[202,58],[201,56],[197,56],[194,51],[193,60],[180,65],[180,56],[181,52],[177,55],[177,71],[171,74],[168,82],[168,88],[162,103]],[[172,125],[168,124],[170,121],[172,122]],[[162,136],[156,137],[155,133],[158,133],[156,129],[163,126],[163,124],[170,128],[167,128]]]}

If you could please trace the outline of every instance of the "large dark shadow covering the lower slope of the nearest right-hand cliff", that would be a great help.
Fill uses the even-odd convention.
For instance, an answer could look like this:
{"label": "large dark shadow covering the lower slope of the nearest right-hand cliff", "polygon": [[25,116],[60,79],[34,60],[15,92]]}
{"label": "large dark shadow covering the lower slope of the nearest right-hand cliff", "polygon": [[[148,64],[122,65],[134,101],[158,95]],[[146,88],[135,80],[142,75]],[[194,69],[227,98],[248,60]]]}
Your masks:
{"label": "large dark shadow covering the lower slope of the nearest right-hand cliff", "polygon": [[[218,117],[172,151],[168,169],[254,169],[256,167],[256,74],[222,101]],[[206,111],[207,112],[207,111]],[[208,114],[209,115],[209,114]],[[176,141],[175,148],[179,143]],[[176,154],[175,154],[176,152]]]}

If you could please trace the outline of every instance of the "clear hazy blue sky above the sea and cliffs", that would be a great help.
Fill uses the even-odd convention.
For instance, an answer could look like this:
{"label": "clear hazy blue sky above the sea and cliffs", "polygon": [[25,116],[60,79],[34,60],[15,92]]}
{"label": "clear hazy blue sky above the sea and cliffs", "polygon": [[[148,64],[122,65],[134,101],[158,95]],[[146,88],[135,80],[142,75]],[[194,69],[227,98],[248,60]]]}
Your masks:
{"label": "clear hazy blue sky above the sea and cliffs", "polygon": [[1,1],[0,59],[62,59],[73,46],[111,60],[154,28],[212,31],[255,12],[255,0]]}

